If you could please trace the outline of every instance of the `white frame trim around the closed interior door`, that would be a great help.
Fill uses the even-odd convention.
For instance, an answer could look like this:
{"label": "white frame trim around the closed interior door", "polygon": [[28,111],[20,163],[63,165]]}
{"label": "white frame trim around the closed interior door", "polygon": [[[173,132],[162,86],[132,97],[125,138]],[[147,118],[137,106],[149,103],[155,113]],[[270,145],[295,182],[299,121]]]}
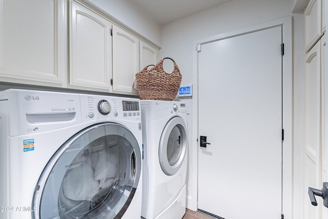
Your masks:
{"label": "white frame trim around the closed interior door", "polygon": [[238,36],[270,27],[282,26],[282,42],[284,44],[284,55],[282,56],[282,127],[284,129],[284,140],[282,144],[282,212],[285,218],[292,218],[293,197],[293,59],[292,59],[292,17],[285,17],[275,21],[242,28],[239,30],[222,33],[193,42],[193,128],[192,147],[192,191],[191,197],[187,197],[188,207],[197,209],[198,202],[198,51],[201,44],[217,41],[218,39]]}

